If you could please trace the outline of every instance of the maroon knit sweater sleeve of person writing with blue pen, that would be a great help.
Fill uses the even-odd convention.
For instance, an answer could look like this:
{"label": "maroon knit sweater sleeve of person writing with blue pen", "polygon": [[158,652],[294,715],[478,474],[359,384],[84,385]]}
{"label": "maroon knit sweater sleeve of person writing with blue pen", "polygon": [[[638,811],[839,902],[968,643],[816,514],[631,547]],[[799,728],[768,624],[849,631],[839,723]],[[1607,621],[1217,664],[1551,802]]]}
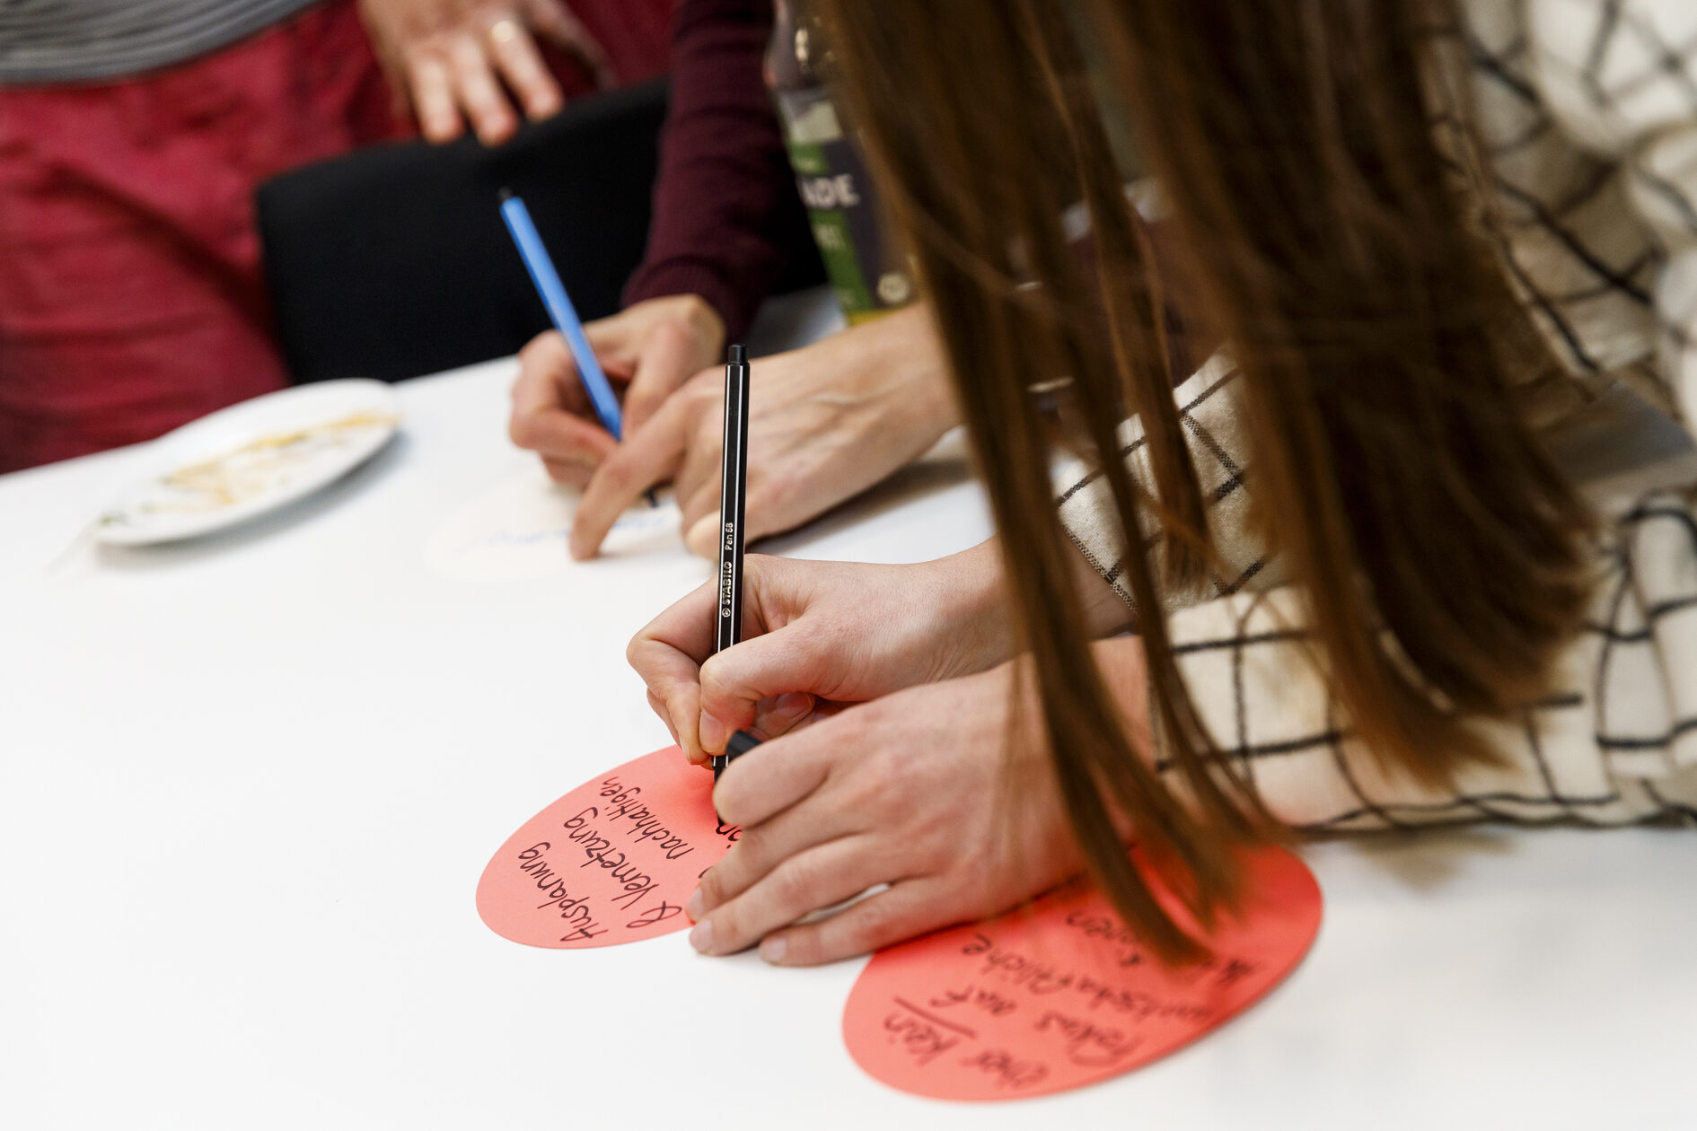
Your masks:
{"label": "maroon knit sweater sleeve of person writing with blue pen", "polygon": [[682,0],[648,251],[624,302],[701,295],[736,341],[784,268],[799,209],[762,61],[772,0]]}

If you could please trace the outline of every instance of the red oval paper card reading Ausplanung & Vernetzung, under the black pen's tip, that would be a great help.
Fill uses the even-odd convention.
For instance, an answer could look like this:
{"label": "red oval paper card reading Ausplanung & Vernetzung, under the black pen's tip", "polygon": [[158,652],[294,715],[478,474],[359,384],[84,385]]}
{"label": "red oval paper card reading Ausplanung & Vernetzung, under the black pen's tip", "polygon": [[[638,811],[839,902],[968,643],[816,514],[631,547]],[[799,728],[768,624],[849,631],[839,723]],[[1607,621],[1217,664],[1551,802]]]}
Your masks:
{"label": "red oval paper card reading Ausplanung & Vernetzung, under the black pen's tip", "polygon": [[684,900],[738,829],[713,814],[713,775],[677,746],[553,802],[507,838],[477,882],[477,914],[514,943],[613,946],[689,926]]}

